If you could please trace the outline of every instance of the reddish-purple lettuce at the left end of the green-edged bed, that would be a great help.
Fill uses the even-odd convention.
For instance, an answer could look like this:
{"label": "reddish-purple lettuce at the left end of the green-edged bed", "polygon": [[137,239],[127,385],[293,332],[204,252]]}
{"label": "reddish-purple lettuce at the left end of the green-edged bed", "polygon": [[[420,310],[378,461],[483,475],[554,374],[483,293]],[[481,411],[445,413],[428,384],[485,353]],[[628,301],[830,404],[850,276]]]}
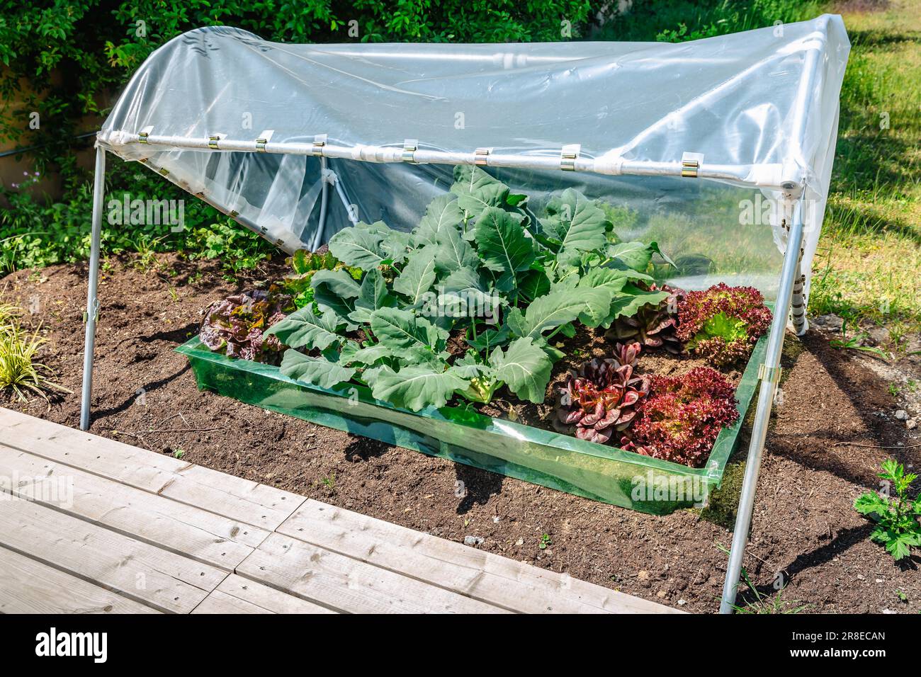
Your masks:
{"label": "reddish-purple lettuce at the left end of the green-edged bed", "polygon": [[254,289],[211,304],[204,312],[198,337],[211,350],[254,362],[279,362],[283,345],[265,330],[295,309],[288,294]]}

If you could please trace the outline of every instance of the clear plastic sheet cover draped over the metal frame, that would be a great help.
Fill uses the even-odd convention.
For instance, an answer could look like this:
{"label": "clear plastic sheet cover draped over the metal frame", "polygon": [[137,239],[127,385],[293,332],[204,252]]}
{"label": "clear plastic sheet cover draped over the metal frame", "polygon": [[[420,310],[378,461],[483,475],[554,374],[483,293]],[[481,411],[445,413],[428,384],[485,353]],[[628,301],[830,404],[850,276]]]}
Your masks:
{"label": "clear plastic sheet cover draped over the metal frame", "polygon": [[[449,188],[452,168],[400,161],[407,140],[445,153],[488,148],[555,162],[563,146],[577,144],[578,158],[596,169],[487,170],[530,195],[538,215],[568,187],[610,204],[615,232],[657,240],[678,264],[678,284],[724,280],[771,296],[784,245],[770,205],[784,181],[804,186],[810,270],[849,49],[842,19],[831,15],[677,44],[290,45],[203,28],[147,58],[99,142],[144,160],[286,251],[316,249],[350,225],[331,190],[321,231],[321,176],[338,182],[352,216],[413,228]],[[145,145],[138,134],[202,143]],[[328,160],[332,173],[321,174],[314,155],[220,150],[225,139],[309,145],[321,134],[351,148],[349,158]],[[387,149],[396,161],[392,152],[380,161]],[[626,169],[692,157],[735,174],[689,179]]]}

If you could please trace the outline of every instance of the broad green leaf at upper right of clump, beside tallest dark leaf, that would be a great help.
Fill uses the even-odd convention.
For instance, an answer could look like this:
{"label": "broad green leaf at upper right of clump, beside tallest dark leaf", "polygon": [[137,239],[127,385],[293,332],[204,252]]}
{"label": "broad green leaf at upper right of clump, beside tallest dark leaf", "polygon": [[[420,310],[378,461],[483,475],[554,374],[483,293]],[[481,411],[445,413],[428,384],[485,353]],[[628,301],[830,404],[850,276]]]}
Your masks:
{"label": "broad green leaf at upper right of clump, beside tallest dark leaf", "polygon": [[567,188],[547,205],[547,213],[541,225],[561,243],[556,255],[560,263],[576,263],[581,252],[597,250],[608,241],[604,212],[577,190]]}

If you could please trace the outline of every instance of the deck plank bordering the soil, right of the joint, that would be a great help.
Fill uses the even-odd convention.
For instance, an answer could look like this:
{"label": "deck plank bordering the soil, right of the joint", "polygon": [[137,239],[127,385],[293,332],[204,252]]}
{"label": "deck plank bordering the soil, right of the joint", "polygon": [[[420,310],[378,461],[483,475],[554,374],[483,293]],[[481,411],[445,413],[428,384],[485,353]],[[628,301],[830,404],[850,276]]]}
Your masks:
{"label": "deck plank bordering the soil, right of the joint", "polygon": [[297,508],[277,531],[511,611],[674,611],[655,602],[315,500]]}

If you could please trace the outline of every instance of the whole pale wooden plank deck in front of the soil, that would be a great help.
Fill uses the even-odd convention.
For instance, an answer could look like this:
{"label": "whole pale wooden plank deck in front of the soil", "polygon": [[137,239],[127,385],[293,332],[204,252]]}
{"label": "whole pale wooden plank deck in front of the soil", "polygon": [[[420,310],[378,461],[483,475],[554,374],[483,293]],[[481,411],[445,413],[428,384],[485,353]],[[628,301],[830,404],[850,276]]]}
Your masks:
{"label": "whole pale wooden plank deck in front of the soil", "polygon": [[0,408],[0,613],[674,613]]}

